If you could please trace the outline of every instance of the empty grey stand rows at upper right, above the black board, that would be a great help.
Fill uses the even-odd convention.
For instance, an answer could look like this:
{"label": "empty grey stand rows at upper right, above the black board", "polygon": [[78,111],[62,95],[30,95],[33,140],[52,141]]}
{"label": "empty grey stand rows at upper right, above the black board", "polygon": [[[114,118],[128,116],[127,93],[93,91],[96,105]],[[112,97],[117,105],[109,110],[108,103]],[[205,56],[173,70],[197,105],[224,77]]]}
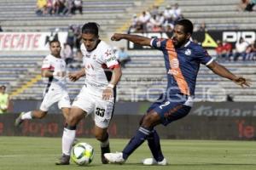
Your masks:
{"label": "empty grey stand rows at upper right, above the black board", "polygon": [[170,3],[178,3],[183,16],[189,18],[195,25],[205,22],[207,27],[213,30],[254,29],[256,27],[256,13],[238,12],[236,9],[239,2],[236,0],[165,1],[162,8]]}

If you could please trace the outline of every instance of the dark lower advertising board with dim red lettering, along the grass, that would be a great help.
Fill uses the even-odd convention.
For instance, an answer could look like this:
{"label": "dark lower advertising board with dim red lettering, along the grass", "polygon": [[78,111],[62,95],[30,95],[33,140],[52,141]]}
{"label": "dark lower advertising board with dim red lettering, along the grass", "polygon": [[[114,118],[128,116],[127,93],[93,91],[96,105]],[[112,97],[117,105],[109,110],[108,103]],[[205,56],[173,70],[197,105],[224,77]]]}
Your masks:
{"label": "dark lower advertising board with dim red lettering, along the grass", "polygon": [[[13,122],[18,114],[0,115],[0,136],[61,137],[64,120],[61,114],[49,114],[46,119],[25,121],[20,128]],[[112,138],[130,138],[142,115],[115,115],[108,133]],[[94,138],[94,122],[82,120],[77,127],[78,137]],[[256,140],[256,117],[251,116],[194,116],[156,127],[163,139],[238,139]]]}

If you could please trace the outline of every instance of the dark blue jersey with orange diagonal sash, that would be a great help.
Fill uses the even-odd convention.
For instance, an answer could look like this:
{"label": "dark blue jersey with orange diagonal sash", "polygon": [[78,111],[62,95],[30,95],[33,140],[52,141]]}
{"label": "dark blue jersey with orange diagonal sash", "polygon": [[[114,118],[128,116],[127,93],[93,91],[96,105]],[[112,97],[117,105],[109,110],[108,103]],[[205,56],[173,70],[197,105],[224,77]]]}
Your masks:
{"label": "dark blue jersey with orange diagonal sash", "polygon": [[200,64],[209,65],[212,57],[207,50],[195,42],[187,42],[181,48],[174,48],[172,39],[154,38],[151,46],[164,54],[167,73],[167,94],[195,94],[195,82]]}

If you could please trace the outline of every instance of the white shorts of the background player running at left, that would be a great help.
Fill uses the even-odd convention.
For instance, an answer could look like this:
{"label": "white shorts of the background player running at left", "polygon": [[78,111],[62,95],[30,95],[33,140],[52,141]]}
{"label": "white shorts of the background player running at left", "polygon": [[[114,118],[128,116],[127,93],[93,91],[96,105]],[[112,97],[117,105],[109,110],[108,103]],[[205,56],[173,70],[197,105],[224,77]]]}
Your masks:
{"label": "white shorts of the background player running at left", "polygon": [[43,102],[40,106],[41,111],[48,111],[49,107],[58,102],[59,109],[67,107],[70,108],[70,99],[67,90],[49,88],[49,91],[44,94]]}

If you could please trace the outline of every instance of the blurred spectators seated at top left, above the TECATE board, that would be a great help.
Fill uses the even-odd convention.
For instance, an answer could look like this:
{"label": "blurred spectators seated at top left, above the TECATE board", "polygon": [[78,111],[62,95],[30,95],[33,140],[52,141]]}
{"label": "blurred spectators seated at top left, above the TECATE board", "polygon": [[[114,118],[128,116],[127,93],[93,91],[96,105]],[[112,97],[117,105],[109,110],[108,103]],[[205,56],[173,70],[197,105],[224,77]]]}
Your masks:
{"label": "blurred spectators seated at top left, above the TECATE board", "polygon": [[76,11],[83,14],[82,0],[38,0],[36,14],[38,16],[67,16],[76,14]]}

